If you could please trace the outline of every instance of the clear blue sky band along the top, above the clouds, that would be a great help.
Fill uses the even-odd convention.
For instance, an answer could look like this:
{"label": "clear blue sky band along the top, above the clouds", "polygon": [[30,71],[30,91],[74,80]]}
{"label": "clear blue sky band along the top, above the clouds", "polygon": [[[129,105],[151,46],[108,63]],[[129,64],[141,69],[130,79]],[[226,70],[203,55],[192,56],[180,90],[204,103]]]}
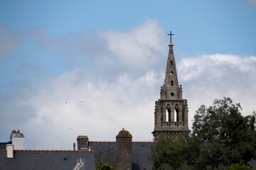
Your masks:
{"label": "clear blue sky band along the top, above the clouds", "polygon": [[9,29],[46,27],[53,36],[86,30],[125,31],[151,18],[159,21],[166,33],[173,30],[178,47],[188,54],[218,50],[253,55],[253,5],[255,2],[238,0],[1,1],[0,15],[1,23]]}

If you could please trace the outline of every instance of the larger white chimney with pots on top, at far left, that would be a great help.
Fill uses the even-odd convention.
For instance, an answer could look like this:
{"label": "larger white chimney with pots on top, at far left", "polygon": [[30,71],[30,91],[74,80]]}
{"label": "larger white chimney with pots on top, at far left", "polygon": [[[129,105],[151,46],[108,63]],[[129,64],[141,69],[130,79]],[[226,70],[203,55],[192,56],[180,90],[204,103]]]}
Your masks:
{"label": "larger white chimney with pots on top, at far left", "polygon": [[25,137],[20,130],[12,130],[10,135],[11,143],[14,145],[14,149],[25,149]]}

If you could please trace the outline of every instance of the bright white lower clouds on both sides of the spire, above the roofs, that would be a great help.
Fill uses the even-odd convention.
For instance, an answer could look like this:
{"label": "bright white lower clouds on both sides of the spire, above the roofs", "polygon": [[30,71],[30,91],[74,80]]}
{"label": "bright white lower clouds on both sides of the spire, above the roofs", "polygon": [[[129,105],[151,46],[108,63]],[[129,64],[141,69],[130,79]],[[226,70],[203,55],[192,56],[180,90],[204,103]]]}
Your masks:
{"label": "bright white lower clouds on both sides of the spire, above the roofs", "polygon": [[[190,126],[199,106],[210,106],[215,98],[224,96],[241,103],[243,115],[252,113],[256,101],[255,58],[217,54],[177,63],[183,96],[188,99]],[[201,71],[187,77],[194,70]],[[38,113],[26,126],[28,140],[40,148],[71,149],[78,135],[88,135],[90,140],[115,140],[122,127],[134,140],[151,140],[154,101],[159,98],[163,81],[160,72],[146,72],[142,77],[120,74],[110,81],[87,75],[82,69],[40,81],[26,100],[26,105]],[[31,132],[31,128],[39,132]],[[49,143],[33,137],[39,133]]]}

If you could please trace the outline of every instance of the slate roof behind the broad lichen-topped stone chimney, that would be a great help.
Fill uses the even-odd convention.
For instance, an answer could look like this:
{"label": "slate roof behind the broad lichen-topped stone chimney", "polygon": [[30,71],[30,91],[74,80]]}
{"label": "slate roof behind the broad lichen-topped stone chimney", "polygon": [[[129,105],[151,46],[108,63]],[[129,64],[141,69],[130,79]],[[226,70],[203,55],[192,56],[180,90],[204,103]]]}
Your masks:
{"label": "slate roof behind the broad lichen-topped stone chimney", "polygon": [[[132,170],[151,170],[152,161],[149,159],[153,142],[132,142]],[[90,141],[89,146],[95,151],[95,161],[115,164],[116,142]]]}

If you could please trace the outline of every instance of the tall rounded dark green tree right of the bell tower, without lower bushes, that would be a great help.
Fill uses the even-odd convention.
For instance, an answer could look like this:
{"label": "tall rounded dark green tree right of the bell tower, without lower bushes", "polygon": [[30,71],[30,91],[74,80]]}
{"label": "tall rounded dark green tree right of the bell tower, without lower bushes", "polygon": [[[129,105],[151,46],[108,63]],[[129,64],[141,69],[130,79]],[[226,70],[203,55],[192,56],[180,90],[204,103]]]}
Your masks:
{"label": "tall rounded dark green tree right of the bell tower, without lower bushes", "polygon": [[192,137],[198,138],[201,147],[198,164],[213,168],[247,164],[255,156],[255,113],[244,117],[241,110],[240,103],[223,98],[196,111]]}

